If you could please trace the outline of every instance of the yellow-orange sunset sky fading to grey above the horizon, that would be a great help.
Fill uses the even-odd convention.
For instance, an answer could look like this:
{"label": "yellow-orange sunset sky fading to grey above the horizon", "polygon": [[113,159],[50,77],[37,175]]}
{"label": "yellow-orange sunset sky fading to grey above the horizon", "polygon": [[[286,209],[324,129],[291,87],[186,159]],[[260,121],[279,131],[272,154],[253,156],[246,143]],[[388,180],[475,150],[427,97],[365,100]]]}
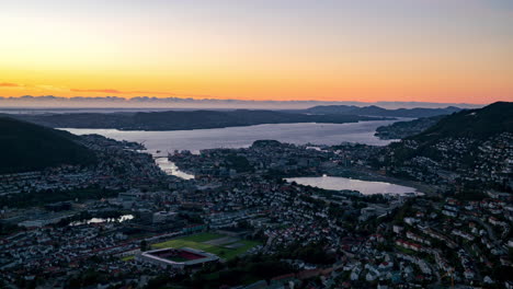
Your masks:
{"label": "yellow-orange sunset sky fading to grey above the horizon", "polygon": [[0,95],[513,101],[511,0],[2,0]]}

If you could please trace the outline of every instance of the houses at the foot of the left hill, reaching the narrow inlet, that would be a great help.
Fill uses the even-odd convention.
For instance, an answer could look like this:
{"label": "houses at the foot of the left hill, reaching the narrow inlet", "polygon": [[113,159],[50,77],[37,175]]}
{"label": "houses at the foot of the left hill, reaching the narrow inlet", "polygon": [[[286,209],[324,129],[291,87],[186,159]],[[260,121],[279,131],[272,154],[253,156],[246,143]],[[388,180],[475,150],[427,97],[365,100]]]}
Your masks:
{"label": "houses at the foot of the left hill, reaching the narrow inlet", "polygon": [[152,157],[132,149],[132,142],[119,142],[100,136],[84,136],[81,141],[98,154],[90,166],[60,165],[38,172],[0,175],[0,196],[20,193],[66,192],[100,187],[123,189],[153,187],[166,175]]}

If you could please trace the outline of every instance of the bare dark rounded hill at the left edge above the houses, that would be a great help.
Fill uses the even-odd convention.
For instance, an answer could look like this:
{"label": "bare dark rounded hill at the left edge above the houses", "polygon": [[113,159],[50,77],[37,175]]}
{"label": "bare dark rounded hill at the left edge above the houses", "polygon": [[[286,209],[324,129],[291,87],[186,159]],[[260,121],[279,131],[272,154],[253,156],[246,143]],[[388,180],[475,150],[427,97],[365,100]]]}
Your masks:
{"label": "bare dark rounded hill at the left edge above the houses", "polygon": [[0,174],[91,164],[95,154],[67,131],[0,117]]}

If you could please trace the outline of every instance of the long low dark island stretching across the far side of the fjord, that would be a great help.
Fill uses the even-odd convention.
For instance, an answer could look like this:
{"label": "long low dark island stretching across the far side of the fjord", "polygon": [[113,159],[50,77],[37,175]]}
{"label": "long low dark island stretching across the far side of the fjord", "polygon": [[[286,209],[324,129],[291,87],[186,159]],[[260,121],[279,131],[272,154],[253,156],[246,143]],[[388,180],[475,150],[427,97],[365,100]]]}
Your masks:
{"label": "long low dark island stretching across the far side of the fjord", "polygon": [[12,116],[26,122],[57,128],[115,128],[122,130],[185,130],[292,123],[345,124],[361,120],[385,119],[383,117],[357,115],[307,115],[248,109],[228,112],[169,111],[151,113],[75,113]]}

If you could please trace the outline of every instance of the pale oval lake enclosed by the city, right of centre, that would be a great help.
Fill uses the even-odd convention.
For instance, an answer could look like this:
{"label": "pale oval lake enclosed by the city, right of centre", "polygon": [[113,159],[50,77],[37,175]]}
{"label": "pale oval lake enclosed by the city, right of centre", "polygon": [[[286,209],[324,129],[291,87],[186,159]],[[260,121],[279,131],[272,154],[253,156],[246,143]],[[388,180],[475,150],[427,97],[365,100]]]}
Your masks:
{"label": "pale oval lake enclosed by the city, right of centre", "polygon": [[391,194],[391,195],[406,195],[408,193],[415,193],[415,188],[395,185],[385,182],[371,182],[362,180],[353,180],[339,176],[315,176],[315,177],[290,177],[286,178],[287,182],[296,182],[300,185],[314,186],[323,189],[342,190],[351,189],[358,190],[363,195],[375,194]]}

